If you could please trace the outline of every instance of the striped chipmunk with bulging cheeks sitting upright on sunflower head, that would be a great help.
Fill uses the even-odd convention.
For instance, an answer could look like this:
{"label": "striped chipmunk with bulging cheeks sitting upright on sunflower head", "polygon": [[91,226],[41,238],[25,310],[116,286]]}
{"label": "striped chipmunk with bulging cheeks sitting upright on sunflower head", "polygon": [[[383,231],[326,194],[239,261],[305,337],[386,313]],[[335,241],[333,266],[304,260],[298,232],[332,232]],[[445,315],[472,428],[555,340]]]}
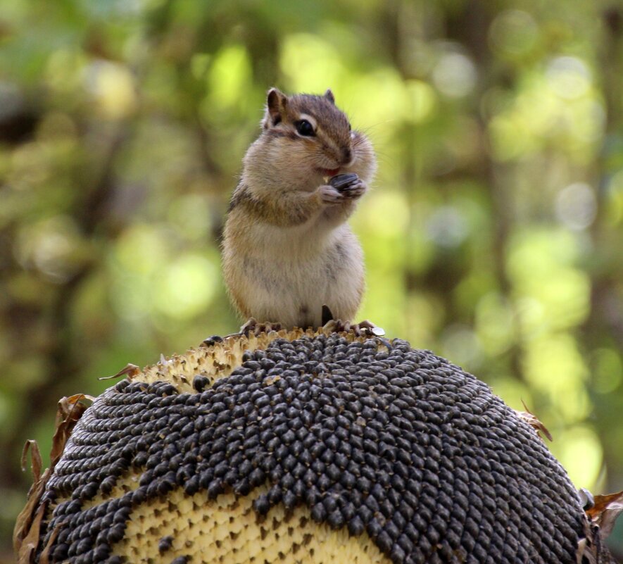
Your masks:
{"label": "striped chipmunk with bulging cheeks sitting upright on sunflower head", "polygon": [[350,324],[365,284],[363,252],[346,223],[375,170],[370,140],[351,130],[331,90],[269,90],[222,243],[229,295],[250,318],[241,332],[317,328],[327,313],[334,330],[375,328]]}

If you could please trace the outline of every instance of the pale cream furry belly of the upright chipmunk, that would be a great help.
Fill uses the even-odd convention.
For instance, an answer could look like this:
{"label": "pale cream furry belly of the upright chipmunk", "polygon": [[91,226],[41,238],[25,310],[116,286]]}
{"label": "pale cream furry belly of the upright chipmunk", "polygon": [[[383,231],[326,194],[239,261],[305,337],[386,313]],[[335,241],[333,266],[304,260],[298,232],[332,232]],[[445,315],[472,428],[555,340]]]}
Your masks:
{"label": "pale cream furry belly of the upright chipmunk", "polygon": [[251,317],[285,327],[319,327],[327,305],[336,319],[352,320],[364,273],[362,251],[348,226],[325,237],[283,228],[263,235],[241,264]]}

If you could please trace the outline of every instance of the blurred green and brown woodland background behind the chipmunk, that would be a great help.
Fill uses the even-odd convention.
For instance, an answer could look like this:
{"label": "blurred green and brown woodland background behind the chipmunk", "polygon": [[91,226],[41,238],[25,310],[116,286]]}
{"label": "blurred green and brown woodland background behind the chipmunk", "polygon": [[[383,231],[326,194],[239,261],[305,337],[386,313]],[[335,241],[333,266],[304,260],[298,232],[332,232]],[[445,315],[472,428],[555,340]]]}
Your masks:
{"label": "blurred green and brown woodland background behind the chipmunk", "polygon": [[272,85],[377,149],[360,317],[623,489],[622,36],[620,1],[4,2],[0,561],[61,396],[239,325],[218,241]]}

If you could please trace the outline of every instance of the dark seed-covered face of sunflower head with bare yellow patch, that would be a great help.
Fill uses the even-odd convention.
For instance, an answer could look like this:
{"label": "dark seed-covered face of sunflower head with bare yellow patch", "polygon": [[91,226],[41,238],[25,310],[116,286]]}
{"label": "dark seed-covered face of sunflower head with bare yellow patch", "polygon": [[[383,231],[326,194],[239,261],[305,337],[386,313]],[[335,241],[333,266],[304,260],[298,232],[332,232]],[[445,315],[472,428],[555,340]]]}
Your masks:
{"label": "dark seed-covered face of sunflower head with bare yellow patch", "polygon": [[[576,562],[583,512],[565,471],[486,384],[429,351],[277,338],[192,385],[123,380],[84,413],[44,494],[51,562],[141,561],[150,534],[155,561],[175,564],[271,550],[328,564],[320,535],[366,547],[349,562]],[[221,526],[213,554],[229,556],[210,559]]]}

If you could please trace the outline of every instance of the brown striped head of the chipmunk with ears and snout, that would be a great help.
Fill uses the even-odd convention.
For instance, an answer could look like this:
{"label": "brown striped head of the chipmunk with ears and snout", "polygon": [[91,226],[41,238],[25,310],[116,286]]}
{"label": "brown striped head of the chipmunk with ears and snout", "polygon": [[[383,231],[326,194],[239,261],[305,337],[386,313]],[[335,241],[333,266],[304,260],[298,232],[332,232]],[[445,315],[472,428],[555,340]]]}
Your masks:
{"label": "brown striped head of the chipmunk with ears and snout", "polygon": [[309,174],[334,176],[371,151],[367,138],[351,130],[331,90],[322,96],[286,96],[270,89],[262,125],[265,135],[287,141],[282,147],[290,158],[308,166]]}

